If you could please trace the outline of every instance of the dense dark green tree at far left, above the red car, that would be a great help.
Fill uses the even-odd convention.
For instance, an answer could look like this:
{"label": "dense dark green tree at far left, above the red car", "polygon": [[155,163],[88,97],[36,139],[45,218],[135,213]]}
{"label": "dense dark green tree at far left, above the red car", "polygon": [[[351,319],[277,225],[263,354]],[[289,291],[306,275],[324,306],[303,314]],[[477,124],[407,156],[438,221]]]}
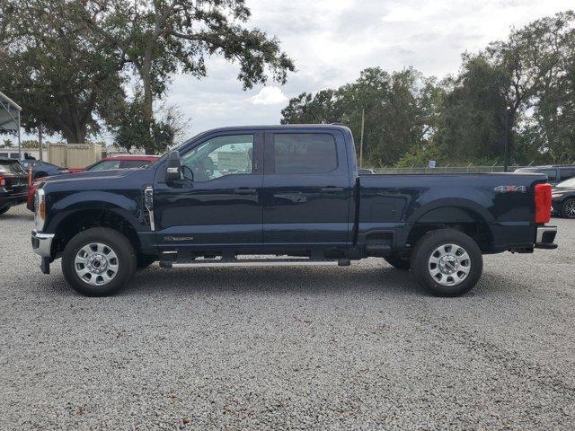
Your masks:
{"label": "dense dark green tree at far left, above the red car", "polygon": [[0,87],[22,106],[22,127],[84,142],[122,99],[125,53],[85,24],[84,2],[0,0]]}

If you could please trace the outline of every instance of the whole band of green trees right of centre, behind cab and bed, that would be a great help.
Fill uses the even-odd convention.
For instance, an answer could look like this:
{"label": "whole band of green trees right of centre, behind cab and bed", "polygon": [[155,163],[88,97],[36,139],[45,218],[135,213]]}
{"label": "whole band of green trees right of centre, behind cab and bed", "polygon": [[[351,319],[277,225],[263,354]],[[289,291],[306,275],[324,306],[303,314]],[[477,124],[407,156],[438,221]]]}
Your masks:
{"label": "whole band of green trees right of centre, behind cab and bed", "polygon": [[510,163],[575,160],[575,13],[531,22],[462,60],[441,82],[366,69],[337,90],[292,99],[282,123],[342,122],[358,141],[365,109],[367,165],[493,164],[503,163],[509,107]]}

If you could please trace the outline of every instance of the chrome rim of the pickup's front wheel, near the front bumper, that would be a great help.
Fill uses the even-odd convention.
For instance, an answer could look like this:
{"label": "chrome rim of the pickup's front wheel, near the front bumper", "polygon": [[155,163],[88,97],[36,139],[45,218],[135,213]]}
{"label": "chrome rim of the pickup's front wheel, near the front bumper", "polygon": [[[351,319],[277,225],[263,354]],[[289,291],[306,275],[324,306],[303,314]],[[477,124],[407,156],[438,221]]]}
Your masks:
{"label": "chrome rim of the pickup's front wheel, near the front bumper", "polygon": [[76,275],[84,283],[104,286],[118,274],[118,255],[109,245],[90,242],[76,253],[74,268]]}

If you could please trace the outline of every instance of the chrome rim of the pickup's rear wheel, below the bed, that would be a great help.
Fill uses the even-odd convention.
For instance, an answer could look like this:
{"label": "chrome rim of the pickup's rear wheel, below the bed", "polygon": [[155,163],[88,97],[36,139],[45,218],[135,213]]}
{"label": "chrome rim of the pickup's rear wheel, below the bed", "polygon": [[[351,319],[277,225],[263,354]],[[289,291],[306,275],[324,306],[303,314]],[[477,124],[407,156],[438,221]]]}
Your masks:
{"label": "chrome rim of the pickup's rear wheel, below the bed", "polygon": [[471,259],[457,244],[442,244],[431,252],[428,269],[430,276],[442,286],[457,286],[471,271]]}

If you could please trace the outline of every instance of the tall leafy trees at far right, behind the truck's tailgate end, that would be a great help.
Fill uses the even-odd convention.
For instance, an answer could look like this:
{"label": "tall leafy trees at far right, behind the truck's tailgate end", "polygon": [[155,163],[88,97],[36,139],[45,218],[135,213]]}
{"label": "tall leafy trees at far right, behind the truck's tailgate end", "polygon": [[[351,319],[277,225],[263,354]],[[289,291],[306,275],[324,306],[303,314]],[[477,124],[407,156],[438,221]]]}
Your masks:
{"label": "tall leafy trees at far right, behind the truck's tailgate end", "polygon": [[575,156],[573,118],[575,14],[557,13],[511,31],[446,81],[434,137],[451,161],[503,161],[510,109],[511,160],[548,163]]}

